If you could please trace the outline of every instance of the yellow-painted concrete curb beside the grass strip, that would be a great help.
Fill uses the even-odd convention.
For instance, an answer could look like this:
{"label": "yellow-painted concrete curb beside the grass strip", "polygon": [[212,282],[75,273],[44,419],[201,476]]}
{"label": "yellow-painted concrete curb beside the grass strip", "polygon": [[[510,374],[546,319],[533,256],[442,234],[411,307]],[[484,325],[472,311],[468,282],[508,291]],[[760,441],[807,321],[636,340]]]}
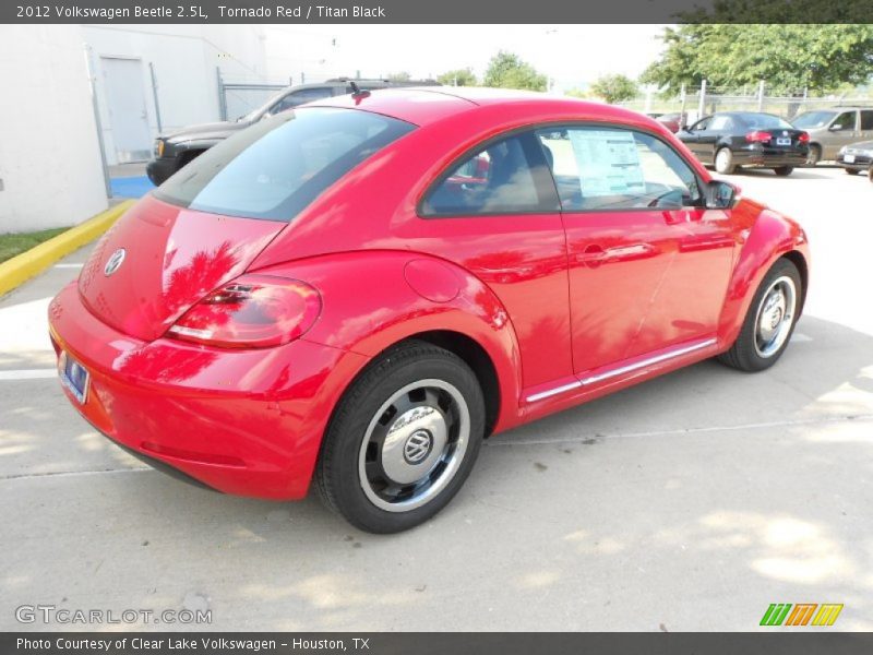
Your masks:
{"label": "yellow-painted concrete curb beside the grass strip", "polygon": [[127,200],[117,204],[75,227],[71,227],[65,233],[0,263],[0,296],[8,294],[34,275],[48,269],[62,257],[103,235],[134,202],[136,201]]}

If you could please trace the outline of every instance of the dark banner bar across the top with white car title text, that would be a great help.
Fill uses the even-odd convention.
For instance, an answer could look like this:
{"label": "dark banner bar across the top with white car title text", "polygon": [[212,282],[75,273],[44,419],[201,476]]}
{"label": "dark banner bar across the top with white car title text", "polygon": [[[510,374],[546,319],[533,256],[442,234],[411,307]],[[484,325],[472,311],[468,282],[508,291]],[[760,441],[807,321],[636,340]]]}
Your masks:
{"label": "dark banner bar across the top with white car title text", "polygon": [[0,23],[873,23],[840,0],[2,0]]}

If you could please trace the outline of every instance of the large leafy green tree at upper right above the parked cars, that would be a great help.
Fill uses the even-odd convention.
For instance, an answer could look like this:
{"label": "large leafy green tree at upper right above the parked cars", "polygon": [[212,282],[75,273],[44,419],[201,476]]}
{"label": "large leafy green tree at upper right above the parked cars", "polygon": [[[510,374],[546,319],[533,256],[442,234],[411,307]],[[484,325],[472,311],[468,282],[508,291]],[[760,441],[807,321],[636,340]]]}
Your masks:
{"label": "large leafy green tree at upper right above the parked cars", "polygon": [[[742,2],[717,3],[716,16]],[[821,93],[862,84],[873,71],[873,25],[685,24],[665,28],[662,38],[660,60],[641,80],[671,93],[703,80],[733,88],[764,80],[770,88]]]}

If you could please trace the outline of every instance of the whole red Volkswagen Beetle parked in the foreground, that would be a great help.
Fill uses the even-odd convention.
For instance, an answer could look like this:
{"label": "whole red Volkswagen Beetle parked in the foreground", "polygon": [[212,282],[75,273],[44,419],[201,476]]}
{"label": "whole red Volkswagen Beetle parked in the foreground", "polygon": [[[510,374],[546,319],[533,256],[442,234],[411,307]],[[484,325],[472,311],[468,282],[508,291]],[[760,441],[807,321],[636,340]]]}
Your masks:
{"label": "whole red Volkswagen Beetle parked in the foreground", "polygon": [[214,489],[396,532],[482,439],[718,356],[782,354],[803,230],[615,107],[360,92],[210,150],[49,309],[96,429]]}

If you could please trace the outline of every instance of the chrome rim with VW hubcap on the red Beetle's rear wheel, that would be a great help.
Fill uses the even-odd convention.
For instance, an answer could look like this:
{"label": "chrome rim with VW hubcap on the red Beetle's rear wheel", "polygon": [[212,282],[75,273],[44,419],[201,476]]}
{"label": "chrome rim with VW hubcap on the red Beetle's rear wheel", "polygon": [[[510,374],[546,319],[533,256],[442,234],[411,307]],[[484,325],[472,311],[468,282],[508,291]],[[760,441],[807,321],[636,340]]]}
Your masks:
{"label": "chrome rim with VW hubcap on the red Beetle's rear wheel", "polygon": [[358,455],[367,498],[388,512],[408,512],[435,498],[461,467],[470,414],[461,392],[443,380],[419,380],[376,410]]}

